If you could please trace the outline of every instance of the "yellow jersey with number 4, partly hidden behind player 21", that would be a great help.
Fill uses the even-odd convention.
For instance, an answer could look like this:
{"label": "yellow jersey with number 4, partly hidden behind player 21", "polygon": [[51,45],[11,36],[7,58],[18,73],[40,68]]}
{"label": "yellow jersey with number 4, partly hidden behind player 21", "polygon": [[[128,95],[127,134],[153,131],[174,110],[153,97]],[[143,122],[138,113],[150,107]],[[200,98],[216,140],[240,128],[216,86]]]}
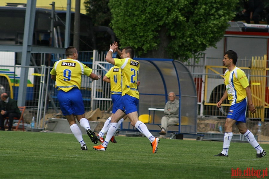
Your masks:
{"label": "yellow jersey with number 4, partly hidden behind player 21", "polygon": [[113,66],[108,70],[105,76],[110,79],[110,93],[121,95],[121,68]]}

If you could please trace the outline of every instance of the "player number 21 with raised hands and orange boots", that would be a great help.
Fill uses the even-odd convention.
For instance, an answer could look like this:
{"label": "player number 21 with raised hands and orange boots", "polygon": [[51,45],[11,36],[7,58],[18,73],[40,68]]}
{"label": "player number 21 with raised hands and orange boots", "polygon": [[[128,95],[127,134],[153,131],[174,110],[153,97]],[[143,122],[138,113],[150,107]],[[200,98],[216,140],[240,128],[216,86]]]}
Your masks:
{"label": "player number 21 with raised hands and orange boots", "polygon": [[136,105],[139,102],[139,92],[137,90],[139,61],[133,60],[134,50],[132,47],[125,47],[121,52],[121,59],[113,58],[112,53],[118,48],[117,44],[111,44],[107,52],[106,61],[121,68],[121,100],[122,106],[115,112],[111,118],[111,124],[107,131],[105,141],[95,150],[105,151],[107,145],[116,131],[117,122],[125,115],[136,129],[145,135],[151,142],[152,152],[156,153],[158,149],[159,138],[155,138],[148,130],[147,126],[138,120]]}

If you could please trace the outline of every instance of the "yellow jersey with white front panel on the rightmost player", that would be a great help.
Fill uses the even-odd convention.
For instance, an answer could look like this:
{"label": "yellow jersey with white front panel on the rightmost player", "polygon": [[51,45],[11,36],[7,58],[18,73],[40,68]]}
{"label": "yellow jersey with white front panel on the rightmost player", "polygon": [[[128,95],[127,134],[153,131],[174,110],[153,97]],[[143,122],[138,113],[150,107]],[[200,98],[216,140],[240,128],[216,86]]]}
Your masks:
{"label": "yellow jersey with white front panel on the rightmost player", "polygon": [[230,106],[243,101],[247,97],[245,88],[249,86],[247,76],[243,70],[235,67],[224,73],[224,84],[228,94]]}

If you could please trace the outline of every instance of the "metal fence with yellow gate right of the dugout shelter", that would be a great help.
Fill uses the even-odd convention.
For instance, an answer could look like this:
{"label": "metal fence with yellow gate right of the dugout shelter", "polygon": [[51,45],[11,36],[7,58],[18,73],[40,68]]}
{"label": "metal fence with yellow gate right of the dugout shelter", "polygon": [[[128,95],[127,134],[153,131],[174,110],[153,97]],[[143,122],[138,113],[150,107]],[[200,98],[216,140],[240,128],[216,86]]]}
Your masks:
{"label": "metal fence with yellow gate right of the dugout shelter", "polygon": [[[269,76],[268,68],[265,68],[267,58],[252,58],[252,60],[238,60],[238,66],[246,73],[252,90],[253,104],[258,110],[255,115],[246,111],[247,127],[254,135],[259,136],[259,141],[269,141],[269,111],[268,111],[268,87],[266,84]],[[210,64],[210,63],[207,63]],[[221,99],[226,87],[223,83],[226,67],[204,65],[203,60],[200,64],[190,65],[190,71],[196,84],[197,104],[198,104],[198,123],[197,132],[210,133],[214,138],[218,138],[218,132],[223,132],[225,119],[229,111],[229,102],[226,100],[220,110],[216,103]],[[203,73],[195,73],[198,68],[204,68]],[[196,70],[195,70],[196,69]],[[240,135],[236,126],[233,132]],[[213,138],[213,137],[212,137]],[[223,135],[221,135],[223,138]],[[241,139],[243,139],[241,137]]]}

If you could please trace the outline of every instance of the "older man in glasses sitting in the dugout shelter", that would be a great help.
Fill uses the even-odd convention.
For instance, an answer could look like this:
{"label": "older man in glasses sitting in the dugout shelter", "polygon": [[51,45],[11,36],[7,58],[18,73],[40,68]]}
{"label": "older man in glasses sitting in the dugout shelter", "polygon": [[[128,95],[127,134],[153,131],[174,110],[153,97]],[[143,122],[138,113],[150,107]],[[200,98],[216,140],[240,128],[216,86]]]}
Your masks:
{"label": "older man in glasses sitting in the dugout shelter", "polygon": [[169,92],[169,100],[165,104],[164,114],[161,121],[161,132],[160,137],[165,138],[167,128],[178,124],[178,113],[179,113],[179,101],[176,99],[174,92]]}

